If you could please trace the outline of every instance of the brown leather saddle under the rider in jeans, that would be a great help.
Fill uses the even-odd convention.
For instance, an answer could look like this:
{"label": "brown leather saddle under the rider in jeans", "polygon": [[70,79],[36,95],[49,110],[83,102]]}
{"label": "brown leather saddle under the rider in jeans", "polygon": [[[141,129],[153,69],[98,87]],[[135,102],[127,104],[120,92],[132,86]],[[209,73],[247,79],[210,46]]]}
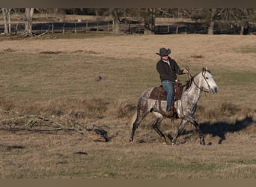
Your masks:
{"label": "brown leather saddle under the rider in jeans", "polygon": [[[174,101],[181,99],[184,88],[185,85],[182,85],[180,82],[174,83]],[[162,88],[162,85],[160,85],[159,87],[153,88],[153,91],[151,91],[149,98],[156,100],[166,100],[167,92]]]}

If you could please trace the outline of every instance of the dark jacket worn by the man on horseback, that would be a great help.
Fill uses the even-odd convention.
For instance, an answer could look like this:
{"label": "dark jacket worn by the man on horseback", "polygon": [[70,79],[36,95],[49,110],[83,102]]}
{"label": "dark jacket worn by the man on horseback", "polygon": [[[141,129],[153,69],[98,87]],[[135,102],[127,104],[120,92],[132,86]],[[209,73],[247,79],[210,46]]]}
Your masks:
{"label": "dark jacket worn by the man on horseback", "polygon": [[168,61],[170,62],[170,66],[165,61],[159,60],[156,64],[156,70],[159,73],[161,82],[163,80],[169,80],[171,82],[175,82],[177,79],[177,75],[184,74],[183,70],[180,70],[180,67],[177,65],[176,61],[168,58]]}

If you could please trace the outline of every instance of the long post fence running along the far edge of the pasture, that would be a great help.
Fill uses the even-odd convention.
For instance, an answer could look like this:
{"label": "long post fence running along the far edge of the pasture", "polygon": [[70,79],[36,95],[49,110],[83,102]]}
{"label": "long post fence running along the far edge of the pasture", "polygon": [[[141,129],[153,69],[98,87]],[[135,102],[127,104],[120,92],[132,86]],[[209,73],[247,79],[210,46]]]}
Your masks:
{"label": "long post fence running along the far edge of the pasture", "polygon": [[[12,34],[24,30],[23,23],[11,25]],[[207,34],[208,25],[204,22],[171,22],[155,25],[155,34]],[[214,34],[240,34],[240,25],[216,22]],[[112,32],[112,21],[82,21],[82,22],[34,22],[34,34],[53,33],[88,33],[91,31]],[[0,25],[0,32],[4,32],[4,25]],[[121,32],[124,34],[143,34],[144,23],[121,22]],[[256,25],[245,28],[244,34],[256,34]]]}

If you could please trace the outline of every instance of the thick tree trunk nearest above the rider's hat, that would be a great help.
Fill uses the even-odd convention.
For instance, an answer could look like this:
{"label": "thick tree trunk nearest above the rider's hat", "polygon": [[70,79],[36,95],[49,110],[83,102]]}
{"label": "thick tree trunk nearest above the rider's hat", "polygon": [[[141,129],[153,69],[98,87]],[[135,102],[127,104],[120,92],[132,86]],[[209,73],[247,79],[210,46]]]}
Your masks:
{"label": "thick tree trunk nearest above the rider's hat", "polygon": [[144,16],[144,34],[155,34],[156,10],[147,8]]}

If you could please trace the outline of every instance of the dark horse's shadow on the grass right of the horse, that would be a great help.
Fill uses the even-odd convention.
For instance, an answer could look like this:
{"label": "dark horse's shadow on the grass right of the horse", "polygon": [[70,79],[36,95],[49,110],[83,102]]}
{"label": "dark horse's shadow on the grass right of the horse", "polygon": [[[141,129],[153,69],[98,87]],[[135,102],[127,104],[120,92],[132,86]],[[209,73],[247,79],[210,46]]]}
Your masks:
{"label": "dark horse's shadow on the grass right of the horse", "polygon": [[226,139],[228,132],[239,132],[246,129],[248,126],[252,126],[255,121],[252,117],[245,117],[243,120],[236,120],[234,123],[228,123],[225,121],[218,121],[216,123],[204,122],[200,124],[201,132],[204,135],[218,136],[218,144],[222,144],[222,141]]}

